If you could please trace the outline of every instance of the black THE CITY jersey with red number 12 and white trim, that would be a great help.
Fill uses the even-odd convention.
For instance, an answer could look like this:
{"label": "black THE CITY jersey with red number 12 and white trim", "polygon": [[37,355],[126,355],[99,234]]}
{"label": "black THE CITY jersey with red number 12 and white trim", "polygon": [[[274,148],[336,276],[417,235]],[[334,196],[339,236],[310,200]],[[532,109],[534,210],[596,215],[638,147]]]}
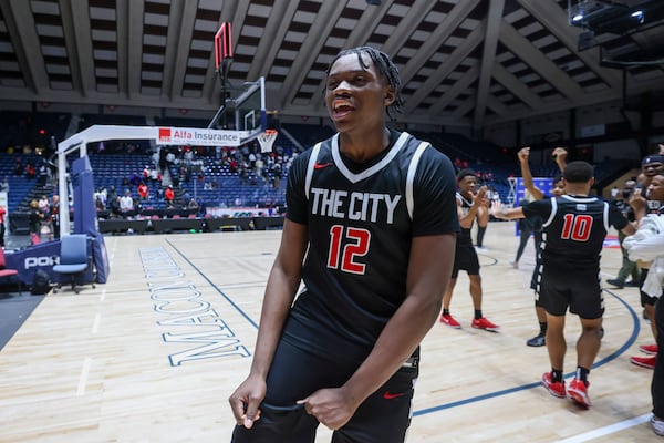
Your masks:
{"label": "black THE CITY jersey with red number 12 and white trim", "polygon": [[298,156],[288,178],[287,217],[309,231],[289,321],[310,341],[289,338],[293,324],[284,337],[314,352],[330,342],[369,352],[405,299],[413,237],[458,231],[452,162],[428,143],[392,132],[382,156],[346,162],[336,134]]}

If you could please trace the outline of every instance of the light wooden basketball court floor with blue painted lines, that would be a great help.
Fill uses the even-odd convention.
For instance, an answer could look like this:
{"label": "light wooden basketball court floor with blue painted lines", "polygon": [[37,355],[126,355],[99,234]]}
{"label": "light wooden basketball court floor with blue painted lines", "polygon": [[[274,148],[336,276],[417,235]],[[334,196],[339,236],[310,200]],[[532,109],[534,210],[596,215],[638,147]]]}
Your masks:
{"label": "light wooden basketball court floor with blue painted lines", "polygon": [[[480,251],[484,311],[470,328],[467,277],[423,347],[408,442],[649,442],[652,371],[630,364],[653,341],[637,290],[605,291],[605,337],[581,410],[540,384],[544,348],[513,223],[491,223]],[[0,352],[0,442],[227,442],[228,395],[246,377],[279,230],[108,236],[111,274],[80,295],[50,293]],[[603,277],[620,249],[605,248]],[[575,368],[575,317],[566,373]],[[343,350],[330,350],[343,352]],[[320,427],[317,442],[329,441]]]}

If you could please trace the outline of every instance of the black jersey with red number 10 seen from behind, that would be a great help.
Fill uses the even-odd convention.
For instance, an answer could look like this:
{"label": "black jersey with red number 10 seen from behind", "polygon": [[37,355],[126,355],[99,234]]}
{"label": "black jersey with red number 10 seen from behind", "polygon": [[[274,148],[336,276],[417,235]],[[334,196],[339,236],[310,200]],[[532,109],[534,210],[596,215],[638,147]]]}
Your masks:
{"label": "black jersey with red number 10 seen from behind", "polygon": [[598,197],[562,195],[523,206],[527,217],[543,223],[542,265],[570,269],[600,268],[600,253],[610,226],[622,229],[627,219]]}

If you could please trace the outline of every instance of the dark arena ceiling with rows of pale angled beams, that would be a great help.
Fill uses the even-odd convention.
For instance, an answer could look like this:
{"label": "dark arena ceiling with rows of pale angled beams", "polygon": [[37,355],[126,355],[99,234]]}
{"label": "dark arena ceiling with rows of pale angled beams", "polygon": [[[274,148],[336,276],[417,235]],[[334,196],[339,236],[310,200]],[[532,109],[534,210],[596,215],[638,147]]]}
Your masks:
{"label": "dark arena ceiling with rows of pale angled beams", "polygon": [[[361,44],[398,65],[403,122],[481,128],[623,97],[639,107],[664,90],[662,3],[1,0],[0,106],[214,112],[221,100],[214,35],[231,22],[230,84],[264,76],[268,109],[282,115],[326,115],[325,69],[341,49]],[[570,25],[570,4],[585,12],[585,28]],[[645,16],[633,17],[634,8]]]}

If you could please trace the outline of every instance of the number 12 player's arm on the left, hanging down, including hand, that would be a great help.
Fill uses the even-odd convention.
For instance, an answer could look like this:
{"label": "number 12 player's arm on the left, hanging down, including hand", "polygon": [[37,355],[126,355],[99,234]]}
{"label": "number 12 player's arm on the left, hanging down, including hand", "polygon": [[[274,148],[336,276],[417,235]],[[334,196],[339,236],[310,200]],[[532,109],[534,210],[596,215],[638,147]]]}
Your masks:
{"label": "number 12 player's arm on the left, hanging down, including hand", "polygon": [[251,427],[260,416],[258,406],[266,395],[268,371],[300,286],[307,244],[307,225],[286,218],[279,251],[266,287],[251,370],[249,377],[229,398],[239,425]]}

